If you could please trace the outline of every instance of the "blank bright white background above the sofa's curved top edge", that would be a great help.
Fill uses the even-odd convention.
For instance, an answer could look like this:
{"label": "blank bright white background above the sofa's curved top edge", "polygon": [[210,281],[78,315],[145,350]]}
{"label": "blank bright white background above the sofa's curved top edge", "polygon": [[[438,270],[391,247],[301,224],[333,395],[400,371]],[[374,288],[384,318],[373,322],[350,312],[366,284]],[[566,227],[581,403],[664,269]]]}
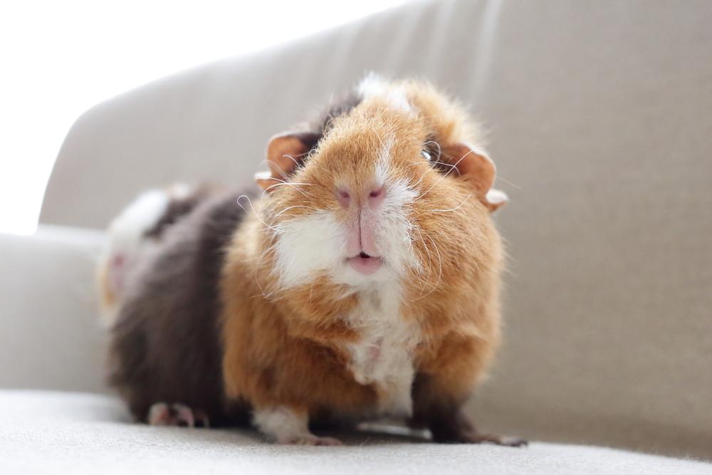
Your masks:
{"label": "blank bright white background above the sofa's curved top edge", "polygon": [[404,1],[0,2],[0,232],[36,229],[62,140],[92,105]]}

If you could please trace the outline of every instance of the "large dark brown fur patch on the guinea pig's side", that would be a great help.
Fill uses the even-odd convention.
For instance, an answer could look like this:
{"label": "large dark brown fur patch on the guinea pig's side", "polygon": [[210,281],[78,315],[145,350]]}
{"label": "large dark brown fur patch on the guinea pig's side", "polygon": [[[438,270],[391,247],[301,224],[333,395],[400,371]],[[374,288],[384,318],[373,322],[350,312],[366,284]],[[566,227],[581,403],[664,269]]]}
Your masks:
{"label": "large dark brown fur patch on the guinea pig's side", "polygon": [[[145,420],[155,402],[203,409],[211,424],[247,422],[223,397],[218,315],[224,249],[244,217],[238,194],[204,199],[162,231],[112,328],[110,384]],[[236,404],[239,406],[239,404]]]}

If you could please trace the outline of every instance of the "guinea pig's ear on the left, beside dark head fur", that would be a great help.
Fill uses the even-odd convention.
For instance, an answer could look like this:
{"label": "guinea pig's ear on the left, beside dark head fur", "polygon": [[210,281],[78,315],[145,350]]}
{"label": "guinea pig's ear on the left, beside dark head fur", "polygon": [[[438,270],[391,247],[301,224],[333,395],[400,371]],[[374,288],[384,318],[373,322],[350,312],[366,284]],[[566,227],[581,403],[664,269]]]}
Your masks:
{"label": "guinea pig's ear on the left, beside dark head fur", "polygon": [[319,135],[314,132],[274,135],[267,144],[269,171],[256,173],[255,182],[266,191],[274,189],[273,184],[286,182],[318,141]]}

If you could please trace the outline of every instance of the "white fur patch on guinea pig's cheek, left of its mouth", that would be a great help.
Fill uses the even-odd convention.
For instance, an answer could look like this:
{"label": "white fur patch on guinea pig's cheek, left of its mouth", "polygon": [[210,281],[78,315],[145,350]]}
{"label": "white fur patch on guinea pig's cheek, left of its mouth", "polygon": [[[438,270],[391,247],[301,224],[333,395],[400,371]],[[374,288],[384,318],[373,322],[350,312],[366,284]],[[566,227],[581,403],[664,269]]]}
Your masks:
{"label": "white fur patch on guinea pig's cheek, left of its mouth", "polygon": [[342,264],[345,230],[331,212],[285,221],[277,234],[275,271],[284,288],[310,283],[319,273]]}

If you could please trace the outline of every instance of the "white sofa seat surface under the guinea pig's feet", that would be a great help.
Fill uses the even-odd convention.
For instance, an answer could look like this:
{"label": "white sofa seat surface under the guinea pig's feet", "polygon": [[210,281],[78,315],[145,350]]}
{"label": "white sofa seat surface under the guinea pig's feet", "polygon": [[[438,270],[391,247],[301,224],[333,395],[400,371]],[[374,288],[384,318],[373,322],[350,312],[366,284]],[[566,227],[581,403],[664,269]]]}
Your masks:
{"label": "white sofa seat surface under the guinea pig's feet", "polygon": [[0,391],[0,420],[4,474],[712,473],[698,461],[543,443],[439,445],[369,433],[345,447],[278,446],[251,431],[135,424],[119,400],[71,392]]}

